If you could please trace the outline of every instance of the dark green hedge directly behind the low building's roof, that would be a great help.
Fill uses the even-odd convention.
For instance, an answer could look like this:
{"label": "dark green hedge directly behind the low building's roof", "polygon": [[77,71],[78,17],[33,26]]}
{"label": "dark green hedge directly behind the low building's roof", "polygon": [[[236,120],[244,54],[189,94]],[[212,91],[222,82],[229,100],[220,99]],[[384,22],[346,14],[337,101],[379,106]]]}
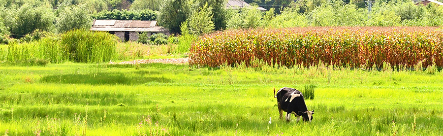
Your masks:
{"label": "dark green hedge directly behind the low building's roof", "polygon": [[140,10],[103,10],[92,16],[94,19],[116,20],[156,20],[157,12],[150,9]]}

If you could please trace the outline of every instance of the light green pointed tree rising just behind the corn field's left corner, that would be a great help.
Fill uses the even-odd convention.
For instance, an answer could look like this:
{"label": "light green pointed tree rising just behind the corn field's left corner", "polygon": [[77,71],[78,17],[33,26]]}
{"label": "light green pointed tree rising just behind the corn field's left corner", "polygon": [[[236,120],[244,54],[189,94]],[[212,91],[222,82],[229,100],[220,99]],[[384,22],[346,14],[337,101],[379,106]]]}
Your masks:
{"label": "light green pointed tree rising just behind the corn field's left corner", "polygon": [[201,35],[212,32],[215,28],[212,18],[212,7],[208,6],[208,3],[194,11],[188,19],[190,34]]}

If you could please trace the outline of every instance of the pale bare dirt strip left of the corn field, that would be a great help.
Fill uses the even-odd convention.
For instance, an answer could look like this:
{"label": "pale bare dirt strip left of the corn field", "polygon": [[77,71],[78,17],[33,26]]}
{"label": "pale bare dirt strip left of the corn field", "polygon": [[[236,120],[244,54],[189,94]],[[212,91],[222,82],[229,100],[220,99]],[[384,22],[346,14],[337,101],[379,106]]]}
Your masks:
{"label": "pale bare dirt strip left of the corn field", "polygon": [[148,60],[133,60],[126,62],[109,62],[109,64],[146,64],[146,63],[164,63],[164,64],[188,64],[189,58],[178,59],[148,59]]}

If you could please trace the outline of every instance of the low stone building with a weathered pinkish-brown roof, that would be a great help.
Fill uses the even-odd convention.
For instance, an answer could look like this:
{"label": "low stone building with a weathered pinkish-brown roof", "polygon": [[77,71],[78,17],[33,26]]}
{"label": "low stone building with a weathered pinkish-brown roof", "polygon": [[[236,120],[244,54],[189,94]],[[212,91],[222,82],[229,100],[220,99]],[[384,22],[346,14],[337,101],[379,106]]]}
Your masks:
{"label": "low stone building with a weathered pinkish-brown roof", "polygon": [[135,41],[139,34],[147,32],[151,34],[166,34],[169,31],[157,25],[157,21],[140,21],[140,20],[94,20],[91,31],[105,31],[115,34],[122,41]]}

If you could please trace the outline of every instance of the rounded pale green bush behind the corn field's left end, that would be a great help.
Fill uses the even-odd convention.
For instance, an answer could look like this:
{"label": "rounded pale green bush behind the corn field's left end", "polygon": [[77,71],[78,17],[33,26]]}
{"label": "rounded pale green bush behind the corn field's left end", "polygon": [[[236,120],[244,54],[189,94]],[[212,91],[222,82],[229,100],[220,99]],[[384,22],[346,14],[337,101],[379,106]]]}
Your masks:
{"label": "rounded pale green bush behind the corn field's left end", "polygon": [[260,26],[261,19],[261,11],[257,9],[257,6],[244,7],[240,9],[240,13],[234,13],[229,18],[226,27],[228,29],[257,28]]}

